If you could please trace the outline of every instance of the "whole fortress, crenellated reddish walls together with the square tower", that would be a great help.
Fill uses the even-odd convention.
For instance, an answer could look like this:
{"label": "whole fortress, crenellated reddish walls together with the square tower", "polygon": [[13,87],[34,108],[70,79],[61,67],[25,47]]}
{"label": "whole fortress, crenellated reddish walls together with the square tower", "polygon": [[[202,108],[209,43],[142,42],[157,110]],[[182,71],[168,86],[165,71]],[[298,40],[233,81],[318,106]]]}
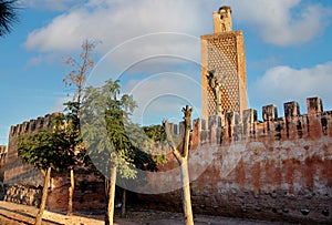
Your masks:
{"label": "whole fortress, crenellated reddish walls together with the square tower", "polygon": [[[274,104],[262,106],[259,121],[258,111],[248,109],[243,32],[232,31],[229,7],[219,8],[212,18],[215,33],[200,38],[201,117],[193,120],[190,134],[194,213],[332,224],[332,111],[323,111],[320,98],[308,98],[307,114],[291,101],[283,104],[283,116],[278,115]],[[8,151],[0,149],[6,161],[6,166],[0,162],[0,178],[6,185],[23,185],[9,190],[7,200],[21,201],[25,195],[29,201],[24,203],[39,203],[30,198],[38,188],[25,186],[42,185],[43,177],[20,161],[15,140],[40,129],[52,130],[55,115],[59,113],[11,126]],[[185,124],[170,123],[170,130],[179,141]],[[173,170],[177,168],[174,155],[167,156],[159,171],[179,171]],[[53,176],[48,206],[65,211],[70,176]],[[85,168],[77,168],[75,176],[74,207],[103,207],[103,181]],[[165,177],[149,174],[146,186],[139,188],[179,181],[179,174]],[[139,208],[179,211],[180,192],[175,188],[164,194],[137,194]]]}

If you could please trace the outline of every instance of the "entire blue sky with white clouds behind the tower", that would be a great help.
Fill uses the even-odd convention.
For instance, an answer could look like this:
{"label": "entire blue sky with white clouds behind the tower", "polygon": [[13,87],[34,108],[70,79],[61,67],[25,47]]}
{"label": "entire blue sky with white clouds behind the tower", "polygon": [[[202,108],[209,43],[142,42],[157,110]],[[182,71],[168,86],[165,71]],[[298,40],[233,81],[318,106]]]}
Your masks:
{"label": "entire blue sky with white clouds behind the tower", "polygon": [[11,125],[62,109],[64,57],[86,39],[100,41],[89,84],[121,78],[138,122],[177,120],[185,103],[199,111],[199,37],[224,4],[245,33],[250,108],[274,103],[282,115],[295,100],[305,113],[307,96],[319,95],[332,109],[331,1],[21,0],[20,22],[0,39],[0,144]]}

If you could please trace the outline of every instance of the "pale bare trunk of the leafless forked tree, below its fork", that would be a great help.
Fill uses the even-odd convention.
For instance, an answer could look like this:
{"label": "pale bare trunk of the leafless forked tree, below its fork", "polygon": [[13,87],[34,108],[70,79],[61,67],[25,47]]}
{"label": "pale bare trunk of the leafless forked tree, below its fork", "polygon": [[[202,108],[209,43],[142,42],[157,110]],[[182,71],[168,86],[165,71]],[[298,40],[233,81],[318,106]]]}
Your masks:
{"label": "pale bare trunk of the leafless forked tree, below its fork", "polygon": [[185,224],[193,225],[193,209],[191,209],[191,200],[190,200],[190,185],[189,185],[189,171],[188,171],[188,161],[185,161],[180,164],[181,173],[181,186],[183,186],[183,208],[185,214]]}

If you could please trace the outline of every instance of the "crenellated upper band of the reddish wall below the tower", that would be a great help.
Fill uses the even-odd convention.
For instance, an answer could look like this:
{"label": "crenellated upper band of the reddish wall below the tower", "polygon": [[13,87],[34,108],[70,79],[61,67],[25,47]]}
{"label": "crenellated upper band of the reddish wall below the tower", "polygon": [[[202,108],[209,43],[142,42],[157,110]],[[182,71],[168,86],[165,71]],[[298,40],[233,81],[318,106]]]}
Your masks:
{"label": "crenellated upper band of the reddish wall below the tower", "polygon": [[[274,104],[262,106],[262,119],[258,120],[258,111],[248,109],[242,112],[242,121],[237,112],[227,112],[221,116],[210,115],[208,121],[193,121],[195,143],[222,144],[222,141],[257,140],[268,137],[270,141],[320,139],[332,136],[332,111],[323,111],[320,98],[307,99],[308,113],[301,114],[295,101],[283,104],[284,116],[278,116]],[[174,134],[183,134],[183,124],[170,124]]]}

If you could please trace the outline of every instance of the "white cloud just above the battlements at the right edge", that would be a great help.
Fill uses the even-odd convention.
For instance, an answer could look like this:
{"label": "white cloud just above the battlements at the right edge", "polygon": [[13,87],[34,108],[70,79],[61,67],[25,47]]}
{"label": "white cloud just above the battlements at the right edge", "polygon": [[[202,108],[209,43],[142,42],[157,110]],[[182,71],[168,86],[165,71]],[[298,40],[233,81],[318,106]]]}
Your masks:
{"label": "white cloud just above the battlements at the right edge", "polygon": [[[305,98],[320,96],[331,108],[332,61],[313,68],[293,69],[276,67],[250,86],[249,94],[255,105],[277,104],[279,111],[288,101],[298,101],[305,112]],[[326,109],[326,110],[328,110]],[[259,110],[259,109],[258,109]]]}

